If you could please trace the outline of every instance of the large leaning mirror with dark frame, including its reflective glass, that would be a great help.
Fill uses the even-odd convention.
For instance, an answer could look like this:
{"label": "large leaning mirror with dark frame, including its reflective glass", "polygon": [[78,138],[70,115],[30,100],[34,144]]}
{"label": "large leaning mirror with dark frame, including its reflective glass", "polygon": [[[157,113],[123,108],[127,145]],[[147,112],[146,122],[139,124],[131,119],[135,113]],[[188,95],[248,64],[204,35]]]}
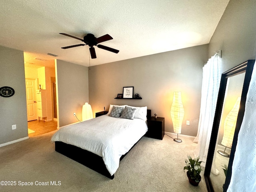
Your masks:
{"label": "large leaning mirror with dark frame, including its reflective glass", "polygon": [[[222,73],[204,171],[210,192],[226,192],[228,189],[254,62],[248,60]],[[217,170],[211,172],[213,162]],[[223,170],[225,165],[226,175]]]}

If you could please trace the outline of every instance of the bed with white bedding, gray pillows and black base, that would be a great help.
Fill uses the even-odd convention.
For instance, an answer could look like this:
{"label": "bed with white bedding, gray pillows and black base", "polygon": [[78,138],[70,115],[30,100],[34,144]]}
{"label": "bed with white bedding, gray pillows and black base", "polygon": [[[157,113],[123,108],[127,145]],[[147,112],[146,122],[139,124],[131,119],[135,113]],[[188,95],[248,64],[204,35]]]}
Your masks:
{"label": "bed with white bedding, gray pillows and black base", "polygon": [[[123,108],[122,116],[113,113],[116,108]],[[136,109],[134,118],[123,117],[126,108]],[[146,107],[110,105],[106,115],[63,126],[52,136],[52,142],[56,152],[113,179],[120,160],[146,134],[150,116],[151,110]]]}

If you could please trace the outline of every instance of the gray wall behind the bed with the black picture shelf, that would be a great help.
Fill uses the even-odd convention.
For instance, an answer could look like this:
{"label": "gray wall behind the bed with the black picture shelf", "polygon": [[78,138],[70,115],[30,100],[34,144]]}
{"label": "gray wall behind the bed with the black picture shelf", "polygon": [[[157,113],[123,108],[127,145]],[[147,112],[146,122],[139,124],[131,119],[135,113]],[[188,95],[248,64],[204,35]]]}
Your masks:
{"label": "gray wall behind the bed with the black picture shelf", "polygon": [[[148,106],[152,115],[165,118],[165,131],[173,132],[170,108],[174,91],[182,91],[185,110],[182,134],[196,136],[200,113],[202,67],[208,45],[195,46],[119,62],[92,66],[89,98],[92,111],[108,110],[110,104]],[[124,86],[134,86],[142,100],[117,100]],[[186,125],[190,120],[190,126]]]}

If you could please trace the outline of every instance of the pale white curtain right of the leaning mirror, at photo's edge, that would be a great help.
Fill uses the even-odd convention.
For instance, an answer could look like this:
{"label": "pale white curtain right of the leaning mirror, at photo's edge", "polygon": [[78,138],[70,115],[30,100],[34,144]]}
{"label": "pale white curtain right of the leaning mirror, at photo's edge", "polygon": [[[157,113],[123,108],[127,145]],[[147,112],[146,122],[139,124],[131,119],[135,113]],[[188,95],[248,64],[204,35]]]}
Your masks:
{"label": "pale white curtain right of the leaning mirror, at photo's edge", "polygon": [[256,191],[256,66],[246,98],[228,192]]}

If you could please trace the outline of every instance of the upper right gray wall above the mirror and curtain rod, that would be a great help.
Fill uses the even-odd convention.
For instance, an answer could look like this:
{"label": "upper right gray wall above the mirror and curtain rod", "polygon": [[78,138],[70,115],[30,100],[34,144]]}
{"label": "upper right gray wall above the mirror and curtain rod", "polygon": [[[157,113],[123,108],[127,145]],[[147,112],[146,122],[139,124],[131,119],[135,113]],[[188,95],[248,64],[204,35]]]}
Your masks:
{"label": "upper right gray wall above the mirror and curtain rod", "polygon": [[230,0],[210,40],[209,57],[222,50],[222,72],[256,57],[256,1]]}

